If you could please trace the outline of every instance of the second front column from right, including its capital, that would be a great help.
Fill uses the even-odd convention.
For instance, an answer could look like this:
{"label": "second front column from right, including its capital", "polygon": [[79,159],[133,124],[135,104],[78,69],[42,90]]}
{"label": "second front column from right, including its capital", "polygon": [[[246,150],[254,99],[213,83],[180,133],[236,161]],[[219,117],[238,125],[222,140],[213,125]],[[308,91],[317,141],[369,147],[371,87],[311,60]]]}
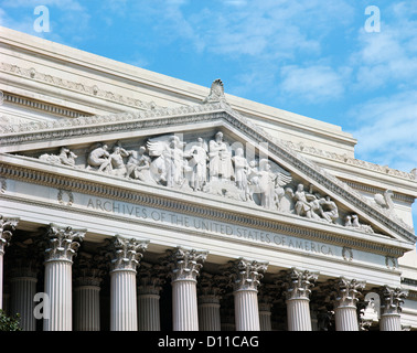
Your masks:
{"label": "second front column from right, including its capital", "polygon": [[335,282],[334,320],[336,331],[359,331],[357,297],[365,288],[364,281],[341,277]]}

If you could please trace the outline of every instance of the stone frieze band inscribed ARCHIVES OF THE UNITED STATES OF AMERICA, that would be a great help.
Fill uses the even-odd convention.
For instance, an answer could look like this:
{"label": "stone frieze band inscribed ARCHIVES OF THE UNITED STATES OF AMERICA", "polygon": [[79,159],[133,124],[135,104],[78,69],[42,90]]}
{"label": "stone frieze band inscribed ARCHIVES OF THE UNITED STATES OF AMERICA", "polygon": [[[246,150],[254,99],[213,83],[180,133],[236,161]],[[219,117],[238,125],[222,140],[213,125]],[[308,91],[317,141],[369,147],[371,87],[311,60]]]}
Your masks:
{"label": "stone frieze band inscribed ARCHIVES OF THE UNITED STATES OF AMERICA", "polygon": [[[61,190],[61,189],[60,189]],[[375,252],[362,250],[360,248],[352,248],[352,245],[346,246],[339,243],[333,243],[332,237],[325,239],[319,233],[307,234],[299,233],[298,227],[288,228],[266,228],[267,224],[261,225],[258,222],[256,214],[247,214],[246,217],[232,216],[227,221],[217,218],[215,213],[207,210],[202,214],[194,214],[188,210],[163,208],[158,206],[150,206],[139,201],[127,202],[115,200],[110,197],[93,196],[90,194],[63,190],[61,191],[62,201],[60,202],[60,190],[49,188],[46,185],[36,185],[8,179],[6,197],[18,197],[30,203],[32,207],[57,207],[56,221],[64,222],[66,215],[73,216],[74,213],[87,216],[103,216],[105,226],[107,222],[114,224],[126,221],[133,221],[143,226],[164,227],[173,232],[189,232],[196,236],[217,237],[229,242],[253,244],[254,246],[261,246],[266,248],[276,248],[277,250],[288,250],[296,254],[324,256],[333,258],[334,260],[342,260],[350,264],[373,264],[388,270],[397,270],[395,266],[386,260],[387,253],[381,254],[378,248]],[[70,205],[71,201],[71,205]],[[172,205],[172,204],[171,204]],[[51,213],[55,216],[55,212]],[[64,217],[64,218],[63,218]],[[111,220],[111,221],[109,221]],[[254,223],[250,223],[254,220]],[[95,225],[96,222],[94,222]],[[88,228],[88,221],[83,225]],[[378,252],[378,253],[377,253]],[[395,258],[395,257],[394,257]],[[388,265],[387,265],[388,264]]]}

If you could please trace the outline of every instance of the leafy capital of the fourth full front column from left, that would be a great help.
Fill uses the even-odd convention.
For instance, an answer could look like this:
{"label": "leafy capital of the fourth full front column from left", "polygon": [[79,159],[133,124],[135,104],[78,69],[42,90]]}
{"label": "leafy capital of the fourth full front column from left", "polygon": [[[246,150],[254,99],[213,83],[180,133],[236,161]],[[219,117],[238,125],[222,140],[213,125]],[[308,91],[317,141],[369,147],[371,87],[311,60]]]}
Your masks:
{"label": "leafy capital of the fourth full front column from left", "polygon": [[257,290],[260,279],[268,268],[268,263],[239,258],[232,266],[234,290]]}

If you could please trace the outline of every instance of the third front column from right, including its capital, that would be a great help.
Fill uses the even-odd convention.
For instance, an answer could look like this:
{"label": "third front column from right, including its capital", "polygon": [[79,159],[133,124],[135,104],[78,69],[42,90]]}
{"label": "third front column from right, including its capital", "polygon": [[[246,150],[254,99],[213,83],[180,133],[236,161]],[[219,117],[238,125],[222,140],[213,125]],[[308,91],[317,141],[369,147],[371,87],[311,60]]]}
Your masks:
{"label": "third front column from right, including its capital", "polygon": [[310,293],[318,274],[292,268],[286,279],[288,331],[311,331]]}

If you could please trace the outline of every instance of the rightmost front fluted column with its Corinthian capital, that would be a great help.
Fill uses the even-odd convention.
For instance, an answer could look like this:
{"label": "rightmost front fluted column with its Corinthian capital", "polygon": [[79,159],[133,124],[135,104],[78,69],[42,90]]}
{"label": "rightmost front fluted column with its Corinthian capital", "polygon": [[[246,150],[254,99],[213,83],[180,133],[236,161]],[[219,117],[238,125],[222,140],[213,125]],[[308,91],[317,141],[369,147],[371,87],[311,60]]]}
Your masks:
{"label": "rightmost front fluted column with its Corinthian capital", "polygon": [[379,331],[402,331],[400,312],[407,291],[385,286],[379,291],[381,319]]}

